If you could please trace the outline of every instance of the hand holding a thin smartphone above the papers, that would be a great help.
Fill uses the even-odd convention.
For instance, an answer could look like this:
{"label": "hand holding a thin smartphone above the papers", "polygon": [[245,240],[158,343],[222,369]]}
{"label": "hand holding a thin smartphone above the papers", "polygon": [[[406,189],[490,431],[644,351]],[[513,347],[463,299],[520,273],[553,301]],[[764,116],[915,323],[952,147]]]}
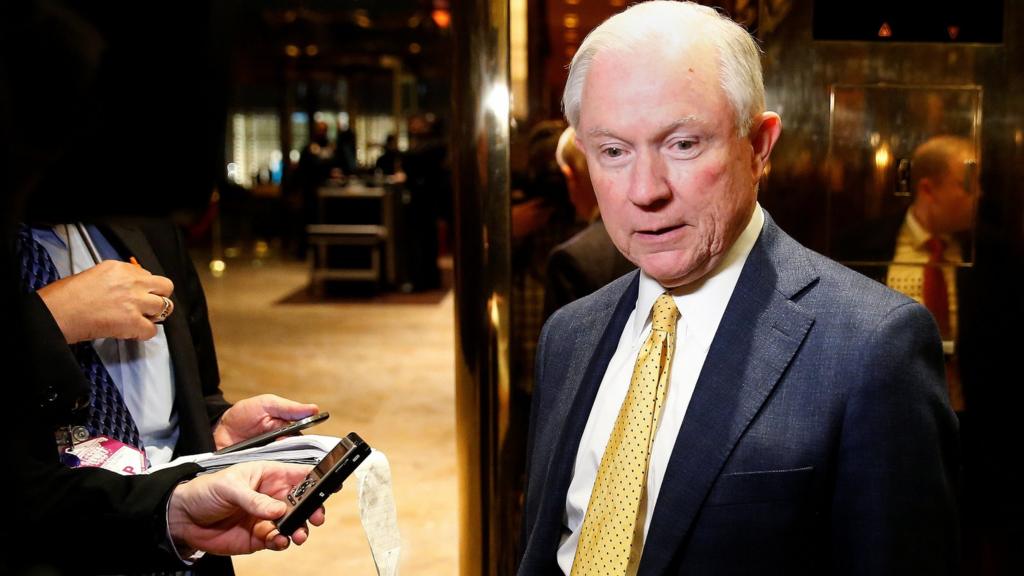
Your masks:
{"label": "hand holding a thin smartphone above the papers", "polygon": [[254,396],[224,412],[213,428],[213,442],[220,450],[318,412],[315,404],[300,404],[272,394]]}

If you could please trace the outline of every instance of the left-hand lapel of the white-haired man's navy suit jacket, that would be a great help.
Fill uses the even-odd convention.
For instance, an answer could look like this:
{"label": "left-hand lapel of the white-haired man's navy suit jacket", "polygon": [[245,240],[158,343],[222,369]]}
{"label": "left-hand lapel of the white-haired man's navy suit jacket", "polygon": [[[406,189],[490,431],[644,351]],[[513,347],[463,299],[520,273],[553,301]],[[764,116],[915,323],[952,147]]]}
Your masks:
{"label": "left-hand lapel of the white-haired man's navy suit jacket", "polygon": [[[536,570],[559,573],[555,565],[555,554],[561,538],[562,517],[565,512],[565,497],[572,481],[572,468],[575,465],[575,455],[580,448],[583,430],[590,417],[590,410],[601,386],[604,371],[611,361],[618,345],[618,338],[636,307],[637,291],[640,275],[635,274],[620,296],[610,316],[605,308],[591,317],[582,320],[581,326],[573,326],[571,331],[577,334],[573,343],[572,363],[566,370],[566,381],[555,406],[566,406],[563,414],[552,414],[552,422],[561,421],[559,429],[552,429],[551,438],[554,447],[551,456],[546,461],[547,474],[541,486],[541,503],[537,521],[532,523],[534,530],[530,541],[534,544],[527,549],[523,565],[534,566]],[[542,546],[543,548],[538,548]],[[543,566],[543,569],[538,567]]]}

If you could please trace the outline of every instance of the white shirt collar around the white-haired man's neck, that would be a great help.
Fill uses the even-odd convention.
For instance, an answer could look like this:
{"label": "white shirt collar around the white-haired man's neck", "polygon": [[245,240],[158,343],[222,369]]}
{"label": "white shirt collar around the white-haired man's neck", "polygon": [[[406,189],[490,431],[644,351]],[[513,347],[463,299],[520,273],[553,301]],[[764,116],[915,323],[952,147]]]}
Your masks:
{"label": "white shirt collar around the white-haired man's neck", "polygon": [[[671,290],[672,297],[676,300],[676,306],[679,307],[680,318],[693,326],[707,326],[709,328],[713,326],[714,330],[718,329],[718,322],[725,314],[725,306],[728,305],[729,298],[732,297],[732,291],[739,280],[739,273],[742,272],[746,256],[750,255],[758,236],[761,235],[764,222],[764,212],[761,209],[761,204],[757,203],[750,221],[746,222],[746,228],[729,247],[718,266],[700,280]],[[649,324],[650,311],[654,307],[654,301],[663,293],[665,293],[665,288],[641,270],[640,289],[633,321],[634,341],[640,338]],[[714,330],[711,330],[712,334]]]}

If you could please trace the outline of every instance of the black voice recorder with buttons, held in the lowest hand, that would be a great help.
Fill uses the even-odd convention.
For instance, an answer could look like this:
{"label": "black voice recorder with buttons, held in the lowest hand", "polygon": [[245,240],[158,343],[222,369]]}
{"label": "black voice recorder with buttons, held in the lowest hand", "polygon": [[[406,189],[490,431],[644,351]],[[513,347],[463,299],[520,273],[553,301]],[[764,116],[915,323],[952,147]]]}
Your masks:
{"label": "black voice recorder with buttons, held in the lowest hand", "polygon": [[348,475],[359,467],[370,455],[370,445],[359,435],[348,433],[341,442],[321,459],[301,484],[288,493],[288,510],[276,520],[278,530],[291,536],[301,527],[331,494],[341,490]]}

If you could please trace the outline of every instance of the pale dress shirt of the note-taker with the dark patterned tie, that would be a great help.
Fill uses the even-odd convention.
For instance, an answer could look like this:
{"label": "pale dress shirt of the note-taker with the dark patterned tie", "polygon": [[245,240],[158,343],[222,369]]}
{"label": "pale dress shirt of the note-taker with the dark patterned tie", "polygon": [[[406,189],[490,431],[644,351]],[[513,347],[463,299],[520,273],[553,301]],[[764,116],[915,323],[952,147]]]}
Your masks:
{"label": "pale dress shirt of the note-taker with the dark patterned tie", "polygon": [[[86,230],[100,260],[122,259],[99,230],[91,225]],[[75,224],[32,229],[32,236],[46,249],[60,278],[97,263]],[[92,345],[125,399],[150,463],[169,462],[179,430],[174,411],[173,365],[164,327],[157,325],[157,335],[145,341],[99,338],[92,340]]]}

